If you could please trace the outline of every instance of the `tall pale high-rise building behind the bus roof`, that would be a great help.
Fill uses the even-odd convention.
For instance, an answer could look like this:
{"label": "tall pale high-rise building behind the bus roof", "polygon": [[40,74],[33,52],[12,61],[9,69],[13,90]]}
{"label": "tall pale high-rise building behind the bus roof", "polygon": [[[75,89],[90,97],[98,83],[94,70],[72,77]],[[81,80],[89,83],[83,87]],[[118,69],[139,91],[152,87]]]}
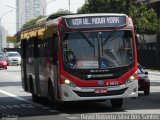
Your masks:
{"label": "tall pale high-rise building behind the bus roof", "polygon": [[40,15],[45,15],[46,0],[16,0],[17,31],[24,23]]}

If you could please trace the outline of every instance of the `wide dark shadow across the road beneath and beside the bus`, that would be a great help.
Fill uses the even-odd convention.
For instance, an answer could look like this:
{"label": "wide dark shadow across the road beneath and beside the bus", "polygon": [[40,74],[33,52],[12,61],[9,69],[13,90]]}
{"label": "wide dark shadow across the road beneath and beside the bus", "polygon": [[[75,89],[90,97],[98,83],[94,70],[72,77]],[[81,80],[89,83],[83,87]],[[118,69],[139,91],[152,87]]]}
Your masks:
{"label": "wide dark shadow across the road beneath and beside the bus", "polygon": [[[23,98],[31,101],[31,96]],[[127,114],[128,110],[157,110],[160,109],[160,94],[159,92],[151,92],[149,96],[139,94],[136,99],[125,99],[123,109],[114,109],[111,107],[110,101],[104,102],[72,102],[62,104],[61,109],[56,109],[52,103],[42,98],[38,102],[38,107],[35,104],[25,103],[24,101],[16,100],[11,97],[0,98],[0,114],[13,114],[19,117],[36,117],[67,114],[85,114],[85,113],[114,113],[121,112]],[[43,109],[43,108],[48,109]],[[55,110],[55,112],[49,112]]]}

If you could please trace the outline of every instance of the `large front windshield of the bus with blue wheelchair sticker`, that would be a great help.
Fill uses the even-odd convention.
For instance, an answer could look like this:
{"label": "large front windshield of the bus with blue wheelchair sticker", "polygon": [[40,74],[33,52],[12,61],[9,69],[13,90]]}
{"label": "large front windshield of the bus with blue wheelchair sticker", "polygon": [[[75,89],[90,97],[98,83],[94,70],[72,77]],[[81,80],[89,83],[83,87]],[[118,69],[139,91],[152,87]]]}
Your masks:
{"label": "large front windshield of the bus with blue wheelchair sticker", "polygon": [[130,30],[68,32],[62,41],[63,62],[71,69],[105,69],[133,62]]}

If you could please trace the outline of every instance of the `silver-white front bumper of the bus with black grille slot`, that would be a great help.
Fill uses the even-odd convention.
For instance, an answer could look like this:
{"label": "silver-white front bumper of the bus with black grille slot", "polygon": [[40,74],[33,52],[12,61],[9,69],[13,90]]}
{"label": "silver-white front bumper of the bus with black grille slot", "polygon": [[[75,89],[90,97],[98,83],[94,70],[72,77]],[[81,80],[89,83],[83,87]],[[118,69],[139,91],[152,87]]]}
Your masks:
{"label": "silver-white front bumper of the bus with black grille slot", "polygon": [[[95,89],[107,89],[107,93],[96,94]],[[129,84],[106,87],[70,87],[61,85],[61,101],[107,100],[138,96],[138,81]]]}

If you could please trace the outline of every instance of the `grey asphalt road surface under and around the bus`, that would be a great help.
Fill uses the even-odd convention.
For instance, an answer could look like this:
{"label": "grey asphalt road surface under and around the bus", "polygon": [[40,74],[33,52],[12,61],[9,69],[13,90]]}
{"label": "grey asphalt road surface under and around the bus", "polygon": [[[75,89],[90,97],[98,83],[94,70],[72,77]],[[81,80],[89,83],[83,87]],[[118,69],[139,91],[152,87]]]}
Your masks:
{"label": "grey asphalt road surface under and around the bus", "polygon": [[113,109],[110,101],[70,103],[62,110],[42,99],[39,103],[31,100],[31,94],[21,87],[19,66],[9,66],[0,70],[0,118],[2,120],[74,120],[74,119],[160,119],[159,74],[149,74],[151,94],[139,92],[136,99],[125,99],[122,109]]}

